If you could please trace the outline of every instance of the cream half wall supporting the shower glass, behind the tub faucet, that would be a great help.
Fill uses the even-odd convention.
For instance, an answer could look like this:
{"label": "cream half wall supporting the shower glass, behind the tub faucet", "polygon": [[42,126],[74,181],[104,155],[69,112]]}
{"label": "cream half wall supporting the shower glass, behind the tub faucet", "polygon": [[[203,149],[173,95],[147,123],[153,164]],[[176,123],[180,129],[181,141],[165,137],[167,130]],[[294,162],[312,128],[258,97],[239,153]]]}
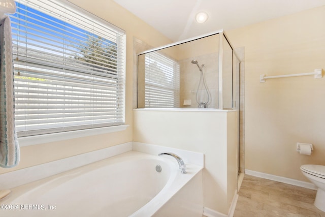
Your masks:
{"label": "cream half wall supporting the shower glass, behind the tub faucet", "polygon": [[134,141],[204,153],[204,206],[228,214],[237,190],[238,111],[134,110]]}

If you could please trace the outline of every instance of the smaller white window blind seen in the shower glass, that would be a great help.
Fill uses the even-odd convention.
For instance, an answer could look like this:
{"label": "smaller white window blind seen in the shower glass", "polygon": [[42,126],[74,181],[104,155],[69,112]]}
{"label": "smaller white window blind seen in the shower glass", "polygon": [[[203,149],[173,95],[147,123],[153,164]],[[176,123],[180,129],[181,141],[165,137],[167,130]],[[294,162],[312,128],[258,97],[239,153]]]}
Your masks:
{"label": "smaller white window blind seen in the shower glass", "polygon": [[179,64],[157,52],[145,54],[145,107],[179,107]]}

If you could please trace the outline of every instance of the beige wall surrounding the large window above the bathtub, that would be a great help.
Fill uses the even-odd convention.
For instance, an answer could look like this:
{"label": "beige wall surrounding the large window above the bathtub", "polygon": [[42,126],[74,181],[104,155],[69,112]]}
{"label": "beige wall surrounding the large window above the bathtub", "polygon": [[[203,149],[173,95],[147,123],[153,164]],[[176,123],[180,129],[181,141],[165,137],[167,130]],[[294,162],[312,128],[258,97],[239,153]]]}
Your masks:
{"label": "beige wall surrounding the large window above the bathtub", "polygon": [[21,161],[17,167],[11,169],[0,168],[0,174],[18,170],[80,153],[98,150],[120,143],[132,141],[133,132],[133,38],[137,37],[148,44],[157,47],[171,43],[142,20],[121,8],[111,0],[71,0],[70,2],[86,9],[110,23],[126,31],[126,111],[125,122],[128,127],[125,131],[102,134],[78,139],[21,147]]}

